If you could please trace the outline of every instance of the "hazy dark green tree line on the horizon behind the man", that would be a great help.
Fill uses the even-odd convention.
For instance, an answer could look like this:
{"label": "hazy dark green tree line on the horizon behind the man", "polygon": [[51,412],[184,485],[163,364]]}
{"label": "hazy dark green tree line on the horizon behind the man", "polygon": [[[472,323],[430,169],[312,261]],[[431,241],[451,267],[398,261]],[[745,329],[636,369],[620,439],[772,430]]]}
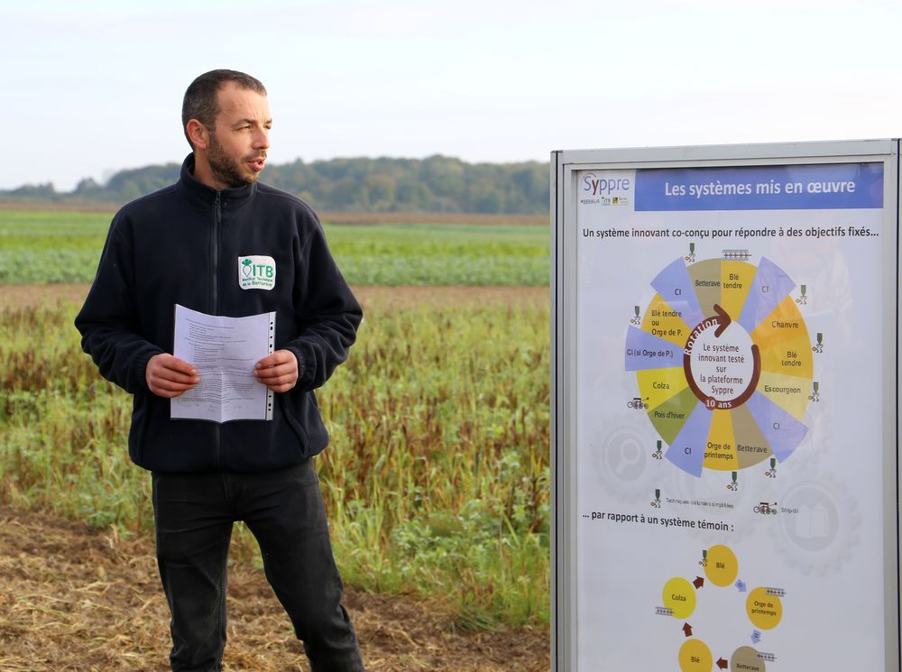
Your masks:
{"label": "hazy dark green tree line on the horizon behind the man", "polygon": [[[120,170],[105,183],[87,178],[73,191],[52,183],[0,191],[3,200],[121,205],[179,179],[179,164]],[[548,163],[467,163],[354,158],[267,166],[263,181],[320,210],[539,215],[548,212]]]}

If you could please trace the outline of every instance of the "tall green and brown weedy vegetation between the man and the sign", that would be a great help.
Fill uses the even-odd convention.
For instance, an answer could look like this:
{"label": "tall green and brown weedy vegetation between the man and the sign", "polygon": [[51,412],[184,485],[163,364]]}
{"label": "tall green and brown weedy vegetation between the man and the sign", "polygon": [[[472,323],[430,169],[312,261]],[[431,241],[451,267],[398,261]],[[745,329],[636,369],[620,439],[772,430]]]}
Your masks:
{"label": "tall green and brown weedy vegetation between the man and the sign", "polygon": [[474,625],[547,619],[547,324],[545,308],[497,306],[364,323],[323,395],[324,481],[357,585],[455,585]]}

